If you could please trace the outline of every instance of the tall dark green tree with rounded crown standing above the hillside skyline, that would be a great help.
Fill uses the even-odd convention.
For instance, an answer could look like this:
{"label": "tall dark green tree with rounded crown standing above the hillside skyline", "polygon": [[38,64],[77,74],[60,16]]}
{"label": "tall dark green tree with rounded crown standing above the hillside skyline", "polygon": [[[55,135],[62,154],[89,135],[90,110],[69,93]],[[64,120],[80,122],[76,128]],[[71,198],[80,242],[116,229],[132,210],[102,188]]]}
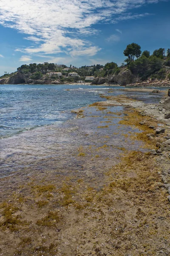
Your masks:
{"label": "tall dark green tree with rounded crown standing above the hillside skyline", "polygon": [[128,44],[123,52],[123,54],[127,56],[130,59],[130,61],[133,61],[135,57],[139,58],[141,53],[141,47],[139,44],[136,43]]}

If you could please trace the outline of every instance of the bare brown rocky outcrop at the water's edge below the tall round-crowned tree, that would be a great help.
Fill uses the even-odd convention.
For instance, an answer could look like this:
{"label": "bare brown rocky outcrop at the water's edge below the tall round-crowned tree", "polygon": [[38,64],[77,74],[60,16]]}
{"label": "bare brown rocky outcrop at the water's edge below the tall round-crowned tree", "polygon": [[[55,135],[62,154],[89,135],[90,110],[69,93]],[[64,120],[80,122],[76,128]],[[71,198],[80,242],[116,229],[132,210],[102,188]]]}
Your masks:
{"label": "bare brown rocky outcrop at the water's edge below the tall round-crowned tree", "polygon": [[125,68],[122,69],[118,75],[109,76],[107,82],[111,84],[127,85],[130,83],[136,83],[136,81],[139,81],[139,78],[133,76],[131,71]]}

